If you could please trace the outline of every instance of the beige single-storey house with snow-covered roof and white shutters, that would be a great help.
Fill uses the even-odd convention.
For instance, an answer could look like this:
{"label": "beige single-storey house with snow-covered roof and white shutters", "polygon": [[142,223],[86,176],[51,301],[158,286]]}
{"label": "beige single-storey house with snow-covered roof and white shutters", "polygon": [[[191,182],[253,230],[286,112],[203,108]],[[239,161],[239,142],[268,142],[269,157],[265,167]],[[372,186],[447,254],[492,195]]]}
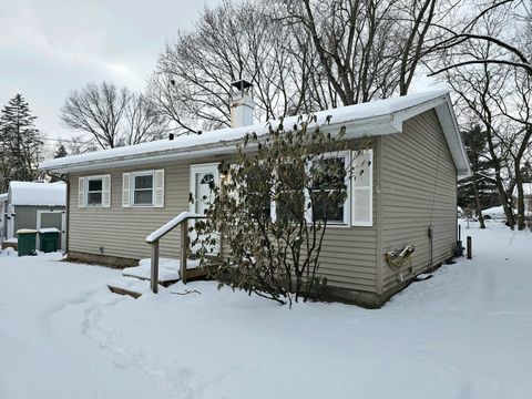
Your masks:
{"label": "beige single-storey house with snow-covered roof and white shutters", "polygon": [[[248,88],[232,109],[234,127],[44,162],[68,176],[69,257],[113,266],[151,256],[145,237],[183,211],[201,213],[217,165],[231,163],[253,121]],[[296,117],[285,120],[293,125]],[[328,122],[326,124],[326,121]],[[470,174],[449,93],[433,91],[316,113],[316,124],[356,147],[370,139],[366,183],[349,183],[341,221],[329,223],[320,274],[335,299],[380,306],[420,273],[454,255],[457,177]],[[348,151],[341,156],[349,157]],[[275,206],[275,205],[274,205]],[[411,247],[409,247],[411,246]],[[409,248],[409,262],[390,257]],[[399,249],[393,252],[395,249]],[[161,239],[161,256],[180,257],[180,236]]]}

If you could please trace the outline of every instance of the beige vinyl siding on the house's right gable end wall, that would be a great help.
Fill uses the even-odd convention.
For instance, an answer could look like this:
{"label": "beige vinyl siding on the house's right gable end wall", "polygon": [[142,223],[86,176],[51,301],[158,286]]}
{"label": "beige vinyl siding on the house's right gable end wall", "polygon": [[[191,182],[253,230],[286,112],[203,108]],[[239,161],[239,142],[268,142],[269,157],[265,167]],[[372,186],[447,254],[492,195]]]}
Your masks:
{"label": "beige vinyl siding on the house's right gable end wall", "polygon": [[[457,241],[457,171],[433,110],[405,122],[403,133],[382,137],[382,255],[413,244],[415,274],[430,265],[428,228],[433,226],[433,264],[452,256]],[[405,278],[382,264],[383,291]]]}

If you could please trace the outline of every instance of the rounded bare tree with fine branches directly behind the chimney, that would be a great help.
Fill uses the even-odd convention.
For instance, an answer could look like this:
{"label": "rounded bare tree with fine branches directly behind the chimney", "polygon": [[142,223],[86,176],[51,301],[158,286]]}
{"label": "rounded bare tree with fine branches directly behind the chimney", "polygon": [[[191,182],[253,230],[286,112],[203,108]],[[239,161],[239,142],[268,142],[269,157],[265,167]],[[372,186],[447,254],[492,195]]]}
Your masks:
{"label": "rounded bare tree with fine branches directly behind the chimney", "polygon": [[[229,125],[231,82],[254,83],[260,119],[301,106],[293,40],[255,1],[205,9],[195,29],[180,32],[160,57],[150,95],[183,132]],[[200,122],[201,121],[201,122]]]}

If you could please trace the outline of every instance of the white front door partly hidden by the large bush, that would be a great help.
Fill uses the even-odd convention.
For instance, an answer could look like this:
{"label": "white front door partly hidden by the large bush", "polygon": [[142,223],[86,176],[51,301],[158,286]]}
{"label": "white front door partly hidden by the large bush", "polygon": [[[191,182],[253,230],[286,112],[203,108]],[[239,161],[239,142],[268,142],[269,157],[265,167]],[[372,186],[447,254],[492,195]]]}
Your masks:
{"label": "white front door partly hidden by the large bush", "polygon": [[[191,212],[204,215],[214,200],[214,192],[211,190],[212,183],[218,184],[218,164],[191,165]],[[194,225],[194,221],[190,221]],[[191,243],[196,239],[195,232],[191,232]],[[217,245],[207,247],[207,250],[217,253]],[[201,248],[201,244],[192,247],[195,252]]]}

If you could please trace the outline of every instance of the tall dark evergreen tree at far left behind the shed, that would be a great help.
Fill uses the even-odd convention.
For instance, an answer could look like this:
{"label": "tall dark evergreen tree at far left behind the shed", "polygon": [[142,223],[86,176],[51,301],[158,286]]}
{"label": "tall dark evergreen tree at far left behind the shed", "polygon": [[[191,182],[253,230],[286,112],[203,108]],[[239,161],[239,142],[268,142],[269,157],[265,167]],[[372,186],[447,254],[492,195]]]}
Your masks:
{"label": "tall dark evergreen tree at far left behind the shed", "polygon": [[10,181],[27,181],[39,176],[37,170],[42,150],[41,134],[34,125],[28,102],[20,94],[12,98],[0,115],[0,192]]}

